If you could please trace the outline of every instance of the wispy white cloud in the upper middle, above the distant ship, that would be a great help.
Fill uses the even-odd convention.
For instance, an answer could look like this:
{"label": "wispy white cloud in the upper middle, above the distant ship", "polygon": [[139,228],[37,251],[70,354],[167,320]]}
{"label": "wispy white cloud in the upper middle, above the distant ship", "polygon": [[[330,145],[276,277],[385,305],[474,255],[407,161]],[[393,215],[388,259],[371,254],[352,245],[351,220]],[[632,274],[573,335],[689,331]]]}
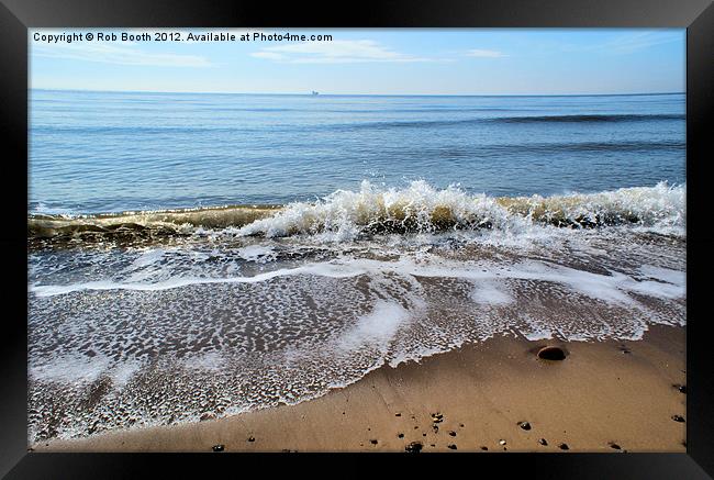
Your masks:
{"label": "wispy white cloud in the upper middle, above the distant ship", "polygon": [[336,40],[332,42],[301,42],[266,47],[250,54],[291,64],[347,64],[362,62],[435,62],[393,52],[371,40]]}

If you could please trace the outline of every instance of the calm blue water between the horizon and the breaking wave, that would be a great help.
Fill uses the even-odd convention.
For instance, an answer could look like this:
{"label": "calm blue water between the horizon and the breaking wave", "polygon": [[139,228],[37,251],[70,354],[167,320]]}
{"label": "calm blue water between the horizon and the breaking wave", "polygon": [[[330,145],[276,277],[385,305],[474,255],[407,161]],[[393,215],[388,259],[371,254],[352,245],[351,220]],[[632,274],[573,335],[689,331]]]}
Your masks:
{"label": "calm blue water between the horizon and the breaking wave", "polygon": [[310,200],[362,179],[490,196],[685,180],[684,94],[30,92],[32,211]]}

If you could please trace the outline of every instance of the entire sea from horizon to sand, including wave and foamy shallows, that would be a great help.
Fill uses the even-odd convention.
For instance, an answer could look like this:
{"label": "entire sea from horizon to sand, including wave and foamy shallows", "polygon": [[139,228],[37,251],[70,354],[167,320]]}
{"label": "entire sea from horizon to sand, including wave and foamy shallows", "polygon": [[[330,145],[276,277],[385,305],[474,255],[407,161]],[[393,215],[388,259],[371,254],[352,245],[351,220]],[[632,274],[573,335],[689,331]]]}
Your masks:
{"label": "entire sea from horizon to sand, including wave and foamy shallows", "polygon": [[684,93],[29,97],[30,444],[685,325]]}

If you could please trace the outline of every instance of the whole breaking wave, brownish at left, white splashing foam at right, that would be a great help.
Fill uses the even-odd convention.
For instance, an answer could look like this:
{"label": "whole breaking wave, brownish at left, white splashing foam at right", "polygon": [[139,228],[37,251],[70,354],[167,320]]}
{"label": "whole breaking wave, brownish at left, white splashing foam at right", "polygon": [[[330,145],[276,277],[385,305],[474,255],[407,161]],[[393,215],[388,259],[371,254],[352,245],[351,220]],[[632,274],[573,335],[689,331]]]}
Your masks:
{"label": "whole breaking wave, brownish at left, white splashing foam at right", "polygon": [[436,189],[423,180],[406,188],[361,182],[315,202],[228,205],[97,215],[31,214],[32,238],[157,237],[223,232],[281,237],[328,234],[350,241],[377,234],[448,231],[527,232],[534,226],[592,228],[609,225],[679,228],[685,224],[685,186],[623,188],[551,197],[489,197],[457,186]]}

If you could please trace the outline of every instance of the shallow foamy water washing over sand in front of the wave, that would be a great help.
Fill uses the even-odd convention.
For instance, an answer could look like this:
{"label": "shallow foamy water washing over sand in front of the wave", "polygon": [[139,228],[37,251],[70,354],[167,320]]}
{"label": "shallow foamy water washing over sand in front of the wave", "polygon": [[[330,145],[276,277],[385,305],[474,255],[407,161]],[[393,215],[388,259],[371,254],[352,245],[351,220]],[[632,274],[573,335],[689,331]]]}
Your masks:
{"label": "shallow foamy water washing over sand in front of the wave", "polygon": [[294,403],[504,333],[624,339],[685,324],[684,237],[543,228],[38,250],[30,439]]}

